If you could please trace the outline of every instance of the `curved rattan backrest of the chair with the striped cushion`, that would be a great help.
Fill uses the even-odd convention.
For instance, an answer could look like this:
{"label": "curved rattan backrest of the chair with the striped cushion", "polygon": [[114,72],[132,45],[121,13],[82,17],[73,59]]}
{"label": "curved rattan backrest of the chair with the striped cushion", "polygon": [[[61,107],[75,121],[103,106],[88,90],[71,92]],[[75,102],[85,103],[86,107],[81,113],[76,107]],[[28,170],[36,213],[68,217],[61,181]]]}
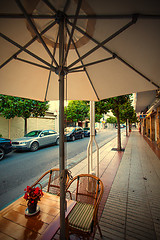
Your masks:
{"label": "curved rattan backrest of the chair with the striped cushion", "polygon": [[104,186],[100,178],[91,174],[80,174],[74,177],[67,186],[72,199],[94,206],[93,218],[97,217],[98,207],[103,195]]}

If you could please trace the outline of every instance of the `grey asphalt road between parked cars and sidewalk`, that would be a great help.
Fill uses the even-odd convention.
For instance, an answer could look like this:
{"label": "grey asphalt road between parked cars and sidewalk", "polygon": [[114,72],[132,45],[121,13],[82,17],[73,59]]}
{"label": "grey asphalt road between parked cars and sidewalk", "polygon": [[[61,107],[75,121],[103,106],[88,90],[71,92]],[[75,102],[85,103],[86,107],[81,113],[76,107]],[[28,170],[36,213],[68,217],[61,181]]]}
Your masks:
{"label": "grey asphalt road between parked cars and sidewalk", "polygon": [[[117,135],[117,130],[105,129],[96,135],[99,147]],[[89,138],[65,143],[66,166],[71,168],[87,156]],[[93,147],[93,150],[95,147]],[[12,152],[0,161],[0,209],[24,194],[50,168],[58,167],[59,146],[41,148],[36,152]]]}

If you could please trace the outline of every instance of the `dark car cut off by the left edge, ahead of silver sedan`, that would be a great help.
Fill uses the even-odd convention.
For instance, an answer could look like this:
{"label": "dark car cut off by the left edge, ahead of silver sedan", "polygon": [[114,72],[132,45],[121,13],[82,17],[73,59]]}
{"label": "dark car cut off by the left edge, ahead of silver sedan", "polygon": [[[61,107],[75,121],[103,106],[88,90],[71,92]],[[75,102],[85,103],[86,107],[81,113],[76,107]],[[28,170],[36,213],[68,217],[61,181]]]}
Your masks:
{"label": "dark car cut off by the left edge, ahead of silver sedan", "polygon": [[0,160],[2,160],[5,154],[12,151],[12,142],[7,138],[0,138]]}

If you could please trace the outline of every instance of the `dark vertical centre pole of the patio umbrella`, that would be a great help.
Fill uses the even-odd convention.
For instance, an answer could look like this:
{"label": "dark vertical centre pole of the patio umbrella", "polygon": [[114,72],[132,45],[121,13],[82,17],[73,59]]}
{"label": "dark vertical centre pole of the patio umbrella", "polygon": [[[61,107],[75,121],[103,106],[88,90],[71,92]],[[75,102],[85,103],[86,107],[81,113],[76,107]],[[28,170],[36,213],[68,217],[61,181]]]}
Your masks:
{"label": "dark vertical centre pole of the patio umbrella", "polygon": [[59,22],[59,168],[60,168],[60,239],[65,240],[65,151],[64,151],[64,18]]}

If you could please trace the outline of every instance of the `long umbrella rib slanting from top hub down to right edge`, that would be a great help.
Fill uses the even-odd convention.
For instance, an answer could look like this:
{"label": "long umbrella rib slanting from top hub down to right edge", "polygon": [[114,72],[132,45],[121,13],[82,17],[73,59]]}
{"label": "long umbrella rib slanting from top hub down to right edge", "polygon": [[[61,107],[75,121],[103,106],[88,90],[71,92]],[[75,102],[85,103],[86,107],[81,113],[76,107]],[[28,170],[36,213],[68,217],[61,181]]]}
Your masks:
{"label": "long umbrella rib slanting from top hub down to right edge", "polygon": [[[68,23],[70,25],[72,25],[72,23],[70,23],[68,21]],[[92,42],[99,44],[99,42],[94,39],[93,37],[91,37],[88,33],[84,32],[81,28],[79,28],[78,26],[76,26],[76,30],[78,30],[80,33],[84,34],[86,37],[88,37]],[[127,65],[129,68],[131,68],[132,70],[134,70],[136,73],[138,73],[140,76],[142,76],[144,79],[146,79],[147,81],[149,81],[150,83],[152,83],[154,86],[156,86],[157,88],[159,88],[159,86],[154,83],[151,79],[149,79],[148,77],[146,77],[145,75],[143,75],[141,72],[139,72],[137,69],[135,69],[134,67],[132,67],[129,63],[127,63],[125,60],[123,60],[121,57],[119,57],[118,55],[116,55],[114,52],[112,52],[110,49],[108,49],[105,46],[102,46],[102,48],[107,51],[108,53],[112,54],[113,56],[115,56],[118,60],[120,60],[121,62],[123,62],[125,65]]]}

